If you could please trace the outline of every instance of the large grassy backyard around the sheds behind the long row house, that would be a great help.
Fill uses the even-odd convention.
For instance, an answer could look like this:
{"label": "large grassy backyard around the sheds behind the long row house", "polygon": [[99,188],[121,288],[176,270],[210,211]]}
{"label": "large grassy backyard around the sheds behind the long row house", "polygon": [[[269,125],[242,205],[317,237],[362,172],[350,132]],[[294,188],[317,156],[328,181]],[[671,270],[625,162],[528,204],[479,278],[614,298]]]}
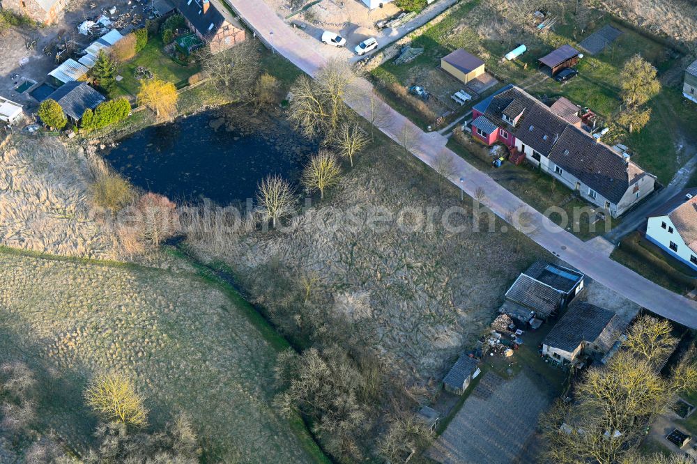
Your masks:
{"label": "large grassy backyard around the sheds behind the long row house", "polygon": [[[653,40],[648,34],[637,33],[613,21],[612,17],[598,10],[584,12],[583,21],[576,20],[572,11],[566,11],[555,31],[533,34],[507,22],[501,13],[494,13],[489,8],[487,2],[479,0],[460,3],[445,20],[412,41],[413,47],[425,49],[424,54],[404,65],[385,62],[372,71],[372,76],[378,82],[399,82],[404,86],[420,83],[428,88],[430,82],[423,81],[436,72],[441,57],[464,47],[484,60],[487,71],[502,84],[522,86],[543,101],[565,96],[577,105],[595,111],[602,121],[612,123],[620,112],[620,70],[627,59],[638,53],[657,67],[663,84],[661,92],[649,103],[652,118],[641,132],[634,134],[627,134],[613,125],[604,141],[629,146],[633,160],[658,176],[661,183],[668,183],[677,169],[687,162],[686,153],[694,152],[694,149],[681,150],[679,147],[697,146],[697,111],[694,111],[694,104],[690,105],[680,96],[681,70],[686,63],[679,52]],[[585,56],[577,66],[579,76],[576,79],[561,86],[537,70],[537,59],[541,56],[565,43],[576,47],[578,42],[606,24],[611,24],[622,34],[595,56],[584,52]],[[501,60],[521,43],[528,47],[525,54],[513,62]],[[395,98],[392,95],[388,100]],[[400,105],[396,108],[401,110]],[[406,116],[416,116],[418,121],[418,115]]]}

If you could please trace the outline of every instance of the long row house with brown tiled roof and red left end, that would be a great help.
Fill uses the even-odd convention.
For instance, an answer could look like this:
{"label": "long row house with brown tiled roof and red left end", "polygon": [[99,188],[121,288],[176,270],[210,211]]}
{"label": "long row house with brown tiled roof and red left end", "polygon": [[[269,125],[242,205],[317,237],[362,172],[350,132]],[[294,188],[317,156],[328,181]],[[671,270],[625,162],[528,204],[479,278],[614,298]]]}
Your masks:
{"label": "long row house with brown tiled roof and red left end", "polygon": [[589,203],[618,217],[654,191],[656,177],[513,85],[472,109],[473,137],[505,144]]}

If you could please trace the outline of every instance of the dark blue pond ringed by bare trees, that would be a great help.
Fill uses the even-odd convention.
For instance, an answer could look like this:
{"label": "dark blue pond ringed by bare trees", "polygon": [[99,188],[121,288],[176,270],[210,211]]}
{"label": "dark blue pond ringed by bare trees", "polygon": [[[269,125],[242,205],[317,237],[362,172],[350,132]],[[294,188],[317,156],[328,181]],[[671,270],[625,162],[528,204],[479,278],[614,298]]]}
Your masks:
{"label": "dark blue pond ringed by bare trees", "polygon": [[118,141],[106,159],[151,192],[227,205],[254,198],[269,174],[297,180],[316,149],[284,118],[231,105],[146,127]]}

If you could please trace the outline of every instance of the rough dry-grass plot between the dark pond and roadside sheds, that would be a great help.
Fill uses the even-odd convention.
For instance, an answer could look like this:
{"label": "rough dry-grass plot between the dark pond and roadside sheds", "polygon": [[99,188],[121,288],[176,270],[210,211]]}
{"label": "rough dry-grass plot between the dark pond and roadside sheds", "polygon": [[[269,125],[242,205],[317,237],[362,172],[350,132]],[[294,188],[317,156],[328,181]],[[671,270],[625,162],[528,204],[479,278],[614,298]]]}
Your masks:
{"label": "rough dry-grass plot between the dark pond and roadside sheds", "polygon": [[[356,160],[330,200],[297,219],[293,233],[252,233],[222,251],[206,243],[197,250],[229,263],[278,325],[300,331],[318,319],[328,326],[345,319],[349,343],[372,347],[393,373],[423,382],[441,378],[449,360],[489,325],[519,270],[544,252],[527,240],[516,250],[516,235],[500,233],[500,223],[491,231],[483,224],[480,232],[470,225],[451,233],[437,213],[433,227],[415,224],[415,231],[394,223],[374,231],[341,215],[332,219],[350,212],[362,224],[369,211],[399,217],[471,205],[447,186],[449,194],[441,194],[438,176],[417,163],[398,147],[374,148]],[[317,278],[311,300],[320,314],[303,302],[307,276]]]}

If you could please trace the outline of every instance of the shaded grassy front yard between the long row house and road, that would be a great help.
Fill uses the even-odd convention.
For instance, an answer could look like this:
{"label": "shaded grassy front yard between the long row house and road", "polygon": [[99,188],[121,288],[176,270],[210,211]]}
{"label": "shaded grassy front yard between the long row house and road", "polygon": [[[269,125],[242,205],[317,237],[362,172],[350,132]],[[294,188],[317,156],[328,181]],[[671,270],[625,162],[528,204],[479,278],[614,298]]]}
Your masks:
{"label": "shaded grassy front yard between the long row house and road", "polygon": [[[463,134],[465,144],[456,138],[459,137],[454,136],[448,141],[448,148],[539,212],[551,213],[548,217],[555,224],[564,226],[581,240],[590,240],[606,232],[604,221],[595,222],[595,212],[599,209],[574,194],[566,185],[528,164],[515,166],[504,162],[500,168],[492,167],[494,157],[488,147],[468,133]],[[566,217],[560,214],[558,208],[564,210]],[[613,219],[608,215],[607,220],[612,228],[622,219]]]}

